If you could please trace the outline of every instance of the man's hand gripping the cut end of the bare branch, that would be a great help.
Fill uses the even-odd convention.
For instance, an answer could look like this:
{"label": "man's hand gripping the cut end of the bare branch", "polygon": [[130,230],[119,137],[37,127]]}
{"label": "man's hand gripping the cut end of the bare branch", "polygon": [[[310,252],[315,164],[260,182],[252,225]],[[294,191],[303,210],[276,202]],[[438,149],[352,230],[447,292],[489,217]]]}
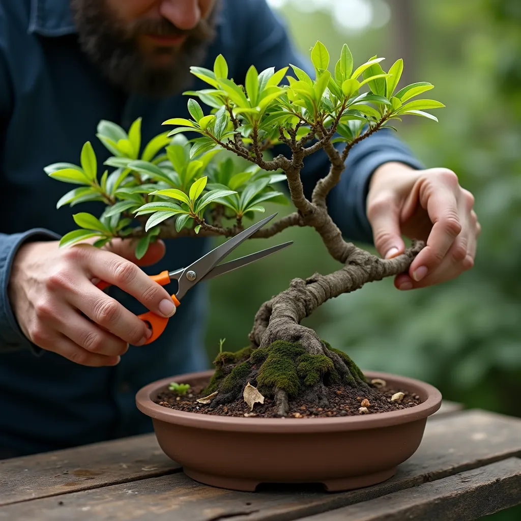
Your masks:
{"label": "man's hand gripping the cut end of the bare branch", "polygon": [[453,279],[474,266],[481,226],[474,196],[446,168],[415,170],[386,163],[371,178],[367,217],[375,246],[384,258],[403,253],[402,235],[426,242],[408,274],[395,278],[401,290]]}

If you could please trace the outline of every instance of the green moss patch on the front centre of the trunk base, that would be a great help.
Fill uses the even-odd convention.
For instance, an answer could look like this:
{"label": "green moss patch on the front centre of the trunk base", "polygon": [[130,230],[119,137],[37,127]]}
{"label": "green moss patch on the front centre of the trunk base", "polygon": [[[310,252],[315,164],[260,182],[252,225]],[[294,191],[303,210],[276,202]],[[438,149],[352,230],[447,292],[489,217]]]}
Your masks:
{"label": "green moss patch on the front centre of the trunk base", "polygon": [[258,385],[270,389],[278,387],[289,396],[296,396],[301,387],[296,371],[296,359],[305,353],[304,349],[299,344],[282,340],[273,342],[265,349],[268,356],[259,369]]}

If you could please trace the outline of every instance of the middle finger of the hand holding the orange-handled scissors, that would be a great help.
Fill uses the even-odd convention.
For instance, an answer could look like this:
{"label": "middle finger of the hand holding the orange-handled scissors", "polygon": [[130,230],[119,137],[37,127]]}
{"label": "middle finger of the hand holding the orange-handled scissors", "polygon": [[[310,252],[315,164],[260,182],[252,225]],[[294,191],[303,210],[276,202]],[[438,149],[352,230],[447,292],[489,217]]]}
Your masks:
{"label": "middle finger of the hand holding the orange-handled scissors", "polygon": [[[69,303],[86,317],[125,343],[143,345],[151,331],[140,318],[130,312],[113,297],[97,289],[93,284],[83,284],[81,291],[70,293]],[[86,339],[98,345],[98,338]]]}

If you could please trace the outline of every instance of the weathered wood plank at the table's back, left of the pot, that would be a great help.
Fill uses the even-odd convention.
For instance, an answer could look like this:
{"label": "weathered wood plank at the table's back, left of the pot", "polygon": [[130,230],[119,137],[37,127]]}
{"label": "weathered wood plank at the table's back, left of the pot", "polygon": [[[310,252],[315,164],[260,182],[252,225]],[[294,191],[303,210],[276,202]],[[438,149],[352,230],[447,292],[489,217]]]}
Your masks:
{"label": "weathered wood plank at the table's back, left of the pot", "polygon": [[0,460],[0,505],[179,472],[153,434]]}

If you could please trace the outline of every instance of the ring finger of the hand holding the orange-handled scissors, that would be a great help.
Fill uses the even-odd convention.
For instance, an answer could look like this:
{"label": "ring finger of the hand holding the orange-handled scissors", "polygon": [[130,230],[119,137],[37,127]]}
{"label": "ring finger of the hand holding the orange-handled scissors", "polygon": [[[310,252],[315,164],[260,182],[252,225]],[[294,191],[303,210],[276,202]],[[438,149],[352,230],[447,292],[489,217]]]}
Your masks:
{"label": "ring finger of the hand holding the orange-handled scissors", "polygon": [[80,348],[91,353],[116,357],[125,354],[129,347],[127,342],[72,311],[60,322],[58,330]]}

